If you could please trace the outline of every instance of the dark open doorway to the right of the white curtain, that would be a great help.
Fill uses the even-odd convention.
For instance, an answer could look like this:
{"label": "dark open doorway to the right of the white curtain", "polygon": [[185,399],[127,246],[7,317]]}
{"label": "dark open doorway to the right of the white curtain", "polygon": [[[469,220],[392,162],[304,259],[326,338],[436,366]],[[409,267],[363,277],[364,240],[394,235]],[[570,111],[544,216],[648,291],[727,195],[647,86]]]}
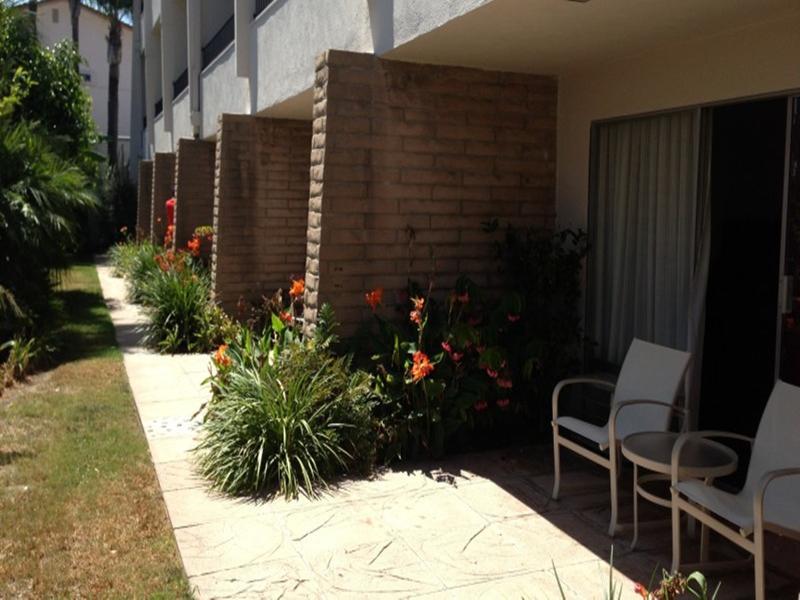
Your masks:
{"label": "dark open doorway to the right of the white curtain", "polygon": [[716,107],[700,428],[755,434],[775,382],[785,98]]}

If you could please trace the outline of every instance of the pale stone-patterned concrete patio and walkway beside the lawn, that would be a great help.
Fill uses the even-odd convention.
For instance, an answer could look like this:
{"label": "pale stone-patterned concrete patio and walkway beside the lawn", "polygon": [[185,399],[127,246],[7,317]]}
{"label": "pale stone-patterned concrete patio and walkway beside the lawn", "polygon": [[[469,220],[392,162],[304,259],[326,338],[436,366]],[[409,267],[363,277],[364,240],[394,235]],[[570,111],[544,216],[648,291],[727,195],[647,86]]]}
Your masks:
{"label": "pale stone-patterned concrete patio and walkway beside the lawn", "polygon": [[[193,474],[193,415],[209,398],[204,355],[160,356],[143,349],[143,317],[125,285],[98,265],[117,339],[164,501],[190,581],[200,598],[603,598],[612,540],[607,479],[575,463],[563,500],[548,501],[548,447],[460,455],[372,480],[347,481],[323,498],[240,501],[207,491]],[[568,461],[567,466],[570,467]],[[587,469],[578,472],[575,467]],[[623,481],[621,522],[630,521]],[[642,518],[668,515],[641,506]],[[687,544],[688,558],[695,550]],[[669,564],[669,526],[644,529],[614,550],[623,598],[637,597]],[[717,544],[721,546],[722,544]],[[721,598],[752,595],[752,570],[724,573]],[[717,577],[710,575],[712,581]],[[796,597],[770,573],[774,597]],[[773,597],[773,596],[771,596]]]}

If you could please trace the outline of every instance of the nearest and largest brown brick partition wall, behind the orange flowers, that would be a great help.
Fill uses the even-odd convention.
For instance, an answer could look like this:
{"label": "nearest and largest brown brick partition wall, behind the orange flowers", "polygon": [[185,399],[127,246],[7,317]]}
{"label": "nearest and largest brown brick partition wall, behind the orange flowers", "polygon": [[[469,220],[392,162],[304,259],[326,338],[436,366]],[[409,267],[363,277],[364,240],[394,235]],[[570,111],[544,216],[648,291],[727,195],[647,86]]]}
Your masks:
{"label": "nearest and largest brown brick partition wall, behind the orange flowers", "polygon": [[331,302],[345,332],[364,292],[434,274],[496,285],[497,217],[551,227],[557,83],[331,50],[317,61],[306,319]]}

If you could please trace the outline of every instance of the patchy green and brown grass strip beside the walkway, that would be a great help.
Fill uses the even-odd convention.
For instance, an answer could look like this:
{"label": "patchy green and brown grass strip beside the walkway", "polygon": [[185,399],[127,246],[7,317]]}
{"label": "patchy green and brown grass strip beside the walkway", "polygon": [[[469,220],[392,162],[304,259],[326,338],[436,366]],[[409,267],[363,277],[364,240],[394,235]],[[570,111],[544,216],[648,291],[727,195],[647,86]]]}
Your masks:
{"label": "patchy green and brown grass strip beside the walkway", "polygon": [[0,598],[190,597],[94,266],[55,303],[55,365],[0,397]]}

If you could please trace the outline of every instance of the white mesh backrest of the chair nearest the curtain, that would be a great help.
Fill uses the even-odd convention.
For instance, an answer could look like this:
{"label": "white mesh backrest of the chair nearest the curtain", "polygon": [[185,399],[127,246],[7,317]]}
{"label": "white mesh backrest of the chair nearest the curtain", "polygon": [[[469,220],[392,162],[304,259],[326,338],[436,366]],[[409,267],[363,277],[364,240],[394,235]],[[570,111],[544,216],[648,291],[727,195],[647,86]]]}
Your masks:
{"label": "white mesh backrest of the chair nearest the curtain", "polygon": [[614,403],[655,400],[666,406],[634,405],[617,417],[617,439],[642,431],[666,431],[691,354],[634,338],[619,373]]}

